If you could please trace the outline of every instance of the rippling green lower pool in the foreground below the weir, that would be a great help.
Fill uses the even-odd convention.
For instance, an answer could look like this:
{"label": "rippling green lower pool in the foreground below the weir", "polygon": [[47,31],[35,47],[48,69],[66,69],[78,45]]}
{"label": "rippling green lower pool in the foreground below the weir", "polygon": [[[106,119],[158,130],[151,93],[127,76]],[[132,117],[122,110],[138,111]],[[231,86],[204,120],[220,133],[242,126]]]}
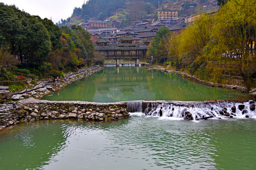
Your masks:
{"label": "rippling green lower pool in the foreground below the weir", "polygon": [[0,132],[0,170],[254,170],[256,120],[37,121]]}

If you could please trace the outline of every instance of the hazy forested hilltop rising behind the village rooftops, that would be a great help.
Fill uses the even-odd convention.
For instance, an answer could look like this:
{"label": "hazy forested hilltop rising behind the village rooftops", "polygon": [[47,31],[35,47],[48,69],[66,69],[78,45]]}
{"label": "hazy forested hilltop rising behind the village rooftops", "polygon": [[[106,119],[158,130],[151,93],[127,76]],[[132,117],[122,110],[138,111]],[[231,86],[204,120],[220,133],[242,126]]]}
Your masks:
{"label": "hazy forested hilltop rising behind the village rooftops", "polygon": [[[196,3],[199,8],[204,7],[204,10],[218,7],[217,0],[88,0],[81,8],[74,8],[71,18],[105,20],[117,16],[118,19],[127,19],[128,14],[135,10],[140,11],[141,19],[156,19],[158,11],[168,10],[178,11],[179,16],[186,17],[196,12],[180,10],[182,5],[188,7],[189,3]],[[62,24],[65,21],[70,21],[70,18]]]}

